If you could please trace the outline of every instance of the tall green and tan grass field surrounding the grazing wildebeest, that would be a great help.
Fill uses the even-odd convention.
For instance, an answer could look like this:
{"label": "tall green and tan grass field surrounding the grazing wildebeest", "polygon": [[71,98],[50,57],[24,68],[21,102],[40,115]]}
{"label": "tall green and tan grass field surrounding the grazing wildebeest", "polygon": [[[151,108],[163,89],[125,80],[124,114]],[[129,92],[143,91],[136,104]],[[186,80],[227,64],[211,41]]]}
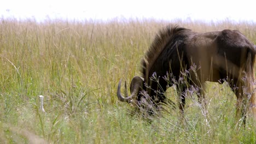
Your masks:
{"label": "tall green and tan grass field surrounding the grazing wildebeest", "polygon": [[[188,98],[186,123],[168,107],[148,123],[118,101],[119,79],[140,75],[144,52],[168,23],[1,19],[0,143],[255,143],[255,121],[249,117],[245,128],[235,121],[236,97],[225,85],[208,83],[207,117]],[[256,44],[255,23],[171,23],[197,32],[238,29]],[[173,88],[166,95],[177,98]]]}

